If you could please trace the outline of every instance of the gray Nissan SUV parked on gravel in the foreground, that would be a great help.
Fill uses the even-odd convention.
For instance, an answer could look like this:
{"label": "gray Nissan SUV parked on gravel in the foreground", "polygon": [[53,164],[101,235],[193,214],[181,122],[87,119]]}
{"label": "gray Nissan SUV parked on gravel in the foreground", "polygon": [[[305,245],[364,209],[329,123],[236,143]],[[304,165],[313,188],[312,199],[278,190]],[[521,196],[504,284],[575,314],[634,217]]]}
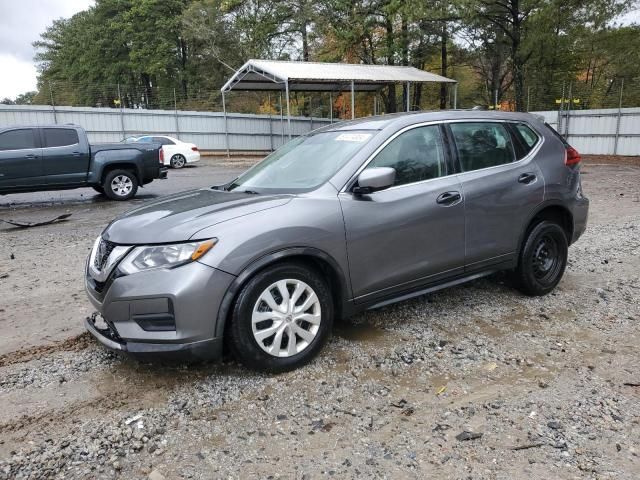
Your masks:
{"label": "gray Nissan SUV parked on gravel in the foreground", "polygon": [[132,210],[96,239],[87,329],[139,355],[285,371],[334,319],[506,270],[558,284],[589,202],[580,156],[530,114],[370,117],[296,138],[226,185]]}

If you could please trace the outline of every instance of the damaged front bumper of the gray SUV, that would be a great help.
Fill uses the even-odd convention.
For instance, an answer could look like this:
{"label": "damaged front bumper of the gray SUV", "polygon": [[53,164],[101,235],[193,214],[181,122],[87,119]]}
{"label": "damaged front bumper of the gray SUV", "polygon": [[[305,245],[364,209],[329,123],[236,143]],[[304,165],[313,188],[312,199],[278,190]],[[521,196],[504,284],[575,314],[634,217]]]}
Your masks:
{"label": "damaged front bumper of the gray SUV", "polygon": [[[112,275],[104,284],[87,271],[85,288],[97,315],[87,330],[113,350],[139,356],[219,358],[216,320],[235,278],[199,262],[133,275]],[[101,322],[99,322],[101,323]]]}

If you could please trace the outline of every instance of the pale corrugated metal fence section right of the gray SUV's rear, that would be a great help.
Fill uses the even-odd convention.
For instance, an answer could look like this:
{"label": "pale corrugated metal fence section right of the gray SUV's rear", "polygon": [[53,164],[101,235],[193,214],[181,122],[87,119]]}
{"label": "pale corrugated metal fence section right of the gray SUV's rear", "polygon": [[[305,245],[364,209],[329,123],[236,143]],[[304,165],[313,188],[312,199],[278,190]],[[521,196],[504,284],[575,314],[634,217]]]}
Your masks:
{"label": "pale corrugated metal fence section right of the gray SUV's rear", "polygon": [[543,115],[580,153],[640,155],[640,108],[531,113]]}

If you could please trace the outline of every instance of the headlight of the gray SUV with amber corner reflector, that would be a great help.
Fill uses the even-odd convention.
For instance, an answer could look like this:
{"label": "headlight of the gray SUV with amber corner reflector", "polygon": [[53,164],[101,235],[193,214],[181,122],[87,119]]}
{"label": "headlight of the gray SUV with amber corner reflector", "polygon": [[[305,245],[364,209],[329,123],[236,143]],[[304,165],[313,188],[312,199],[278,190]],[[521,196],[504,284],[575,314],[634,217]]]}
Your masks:
{"label": "headlight of the gray SUV with amber corner reflector", "polygon": [[136,247],[122,261],[120,270],[130,275],[156,268],[179,267],[199,259],[217,242],[217,238],[212,238],[202,242]]}

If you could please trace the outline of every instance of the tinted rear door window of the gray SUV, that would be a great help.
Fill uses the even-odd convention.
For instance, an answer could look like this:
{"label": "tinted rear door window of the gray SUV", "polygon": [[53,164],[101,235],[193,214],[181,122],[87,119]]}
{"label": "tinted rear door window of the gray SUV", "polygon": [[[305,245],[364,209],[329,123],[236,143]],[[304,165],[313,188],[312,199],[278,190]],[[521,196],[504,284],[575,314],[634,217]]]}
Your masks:
{"label": "tinted rear door window of the gray SUV", "polygon": [[515,161],[511,135],[501,123],[450,123],[460,168],[471,172]]}

